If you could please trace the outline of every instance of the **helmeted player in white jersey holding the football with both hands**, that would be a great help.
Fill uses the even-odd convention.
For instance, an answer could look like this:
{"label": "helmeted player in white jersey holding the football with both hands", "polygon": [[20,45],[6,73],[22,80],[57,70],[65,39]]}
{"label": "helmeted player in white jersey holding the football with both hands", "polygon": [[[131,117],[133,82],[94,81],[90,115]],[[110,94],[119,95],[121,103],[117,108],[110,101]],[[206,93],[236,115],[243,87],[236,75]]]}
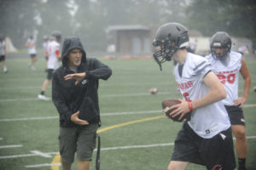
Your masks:
{"label": "helmeted player in white jersey holding the football with both hands", "polygon": [[178,23],[160,26],[153,46],[157,49],[154,59],[159,65],[166,60],[177,61],[175,79],[183,99],[170,107],[175,109],[170,116],[182,119],[191,113],[191,119],[177,133],[168,170],[184,170],[189,162],[207,169],[235,169],[230,120],[221,102],[226,91],[211,71],[209,61],[186,50],[188,30]]}

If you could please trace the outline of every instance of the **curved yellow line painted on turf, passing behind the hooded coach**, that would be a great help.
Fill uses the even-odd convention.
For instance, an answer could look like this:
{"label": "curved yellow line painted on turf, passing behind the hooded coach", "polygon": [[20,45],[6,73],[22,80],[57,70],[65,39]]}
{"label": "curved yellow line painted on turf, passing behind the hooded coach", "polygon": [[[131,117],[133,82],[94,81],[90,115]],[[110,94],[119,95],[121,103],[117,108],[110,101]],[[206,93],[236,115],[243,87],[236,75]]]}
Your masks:
{"label": "curved yellow line painted on turf, passing behind the hooded coach", "polygon": [[[117,128],[117,127],[125,127],[127,125],[135,124],[135,123],[138,123],[138,122],[152,121],[152,120],[160,119],[160,118],[163,118],[163,117],[165,117],[165,116],[153,116],[153,117],[148,117],[148,118],[144,118],[144,119],[139,119],[139,120],[136,120],[136,121],[119,123],[119,124],[116,124],[116,125],[113,125],[113,126],[110,126],[110,127],[105,127],[105,128],[102,128],[102,129],[98,129],[97,133],[102,133],[102,132],[105,132],[105,131],[108,131],[108,130],[111,130],[111,129]],[[60,162],[61,162],[61,155],[60,154],[55,155],[53,161],[51,161],[52,164],[60,163]],[[59,166],[51,166],[50,169],[51,170],[60,170],[60,167]]]}

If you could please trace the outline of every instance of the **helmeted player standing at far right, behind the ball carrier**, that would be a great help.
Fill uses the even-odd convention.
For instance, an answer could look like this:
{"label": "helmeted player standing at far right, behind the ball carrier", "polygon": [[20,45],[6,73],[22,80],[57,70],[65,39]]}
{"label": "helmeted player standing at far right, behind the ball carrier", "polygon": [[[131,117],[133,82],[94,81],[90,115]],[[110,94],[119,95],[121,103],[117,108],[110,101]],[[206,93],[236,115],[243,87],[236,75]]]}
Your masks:
{"label": "helmeted player standing at far right, behind the ball carrier", "polygon": [[[216,32],[210,42],[212,54],[206,56],[212,65],[212,71],[217,75],[227,91],[227,98],[223,99],[228,111],[232,132],[236,136],[236,153],[239,170],[245,170],[247,156],[246,128],[242,105],[247,101],[251,86],[251,76],[242,54],[231,51],[231,38],[224,31]],[[239,73],[244,80],[243,93],[238,97]]]}

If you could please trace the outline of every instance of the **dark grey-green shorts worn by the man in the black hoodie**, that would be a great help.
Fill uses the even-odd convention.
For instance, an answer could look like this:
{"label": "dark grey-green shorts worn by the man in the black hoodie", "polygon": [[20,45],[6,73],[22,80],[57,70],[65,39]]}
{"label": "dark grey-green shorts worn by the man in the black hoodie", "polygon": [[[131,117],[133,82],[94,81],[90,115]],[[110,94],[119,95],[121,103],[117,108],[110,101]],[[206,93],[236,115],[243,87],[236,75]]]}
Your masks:
{"label": "dark grey-green shorts worn by the man in the black hoodie", "polygon": [[98,124],[83,127],[60,127],[59,150],[61,158],[73,163],[75,152],[79,161],[91,161],[96,147],[96,130]]}

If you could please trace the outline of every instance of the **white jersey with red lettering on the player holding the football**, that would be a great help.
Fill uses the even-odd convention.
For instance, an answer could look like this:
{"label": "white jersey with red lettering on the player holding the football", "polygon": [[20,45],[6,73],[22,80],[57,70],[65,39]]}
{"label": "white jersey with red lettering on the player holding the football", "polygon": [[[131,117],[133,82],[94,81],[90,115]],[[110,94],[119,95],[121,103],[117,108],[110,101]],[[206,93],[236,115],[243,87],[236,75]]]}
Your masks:
{"label": "white jersey with red lettering on the player holding the football", "polygon": [[[178,65],[175,68],[175,77],[183,99],[193,101],[207,95],[210,88],[203,82],[203,78],[211,71],[209,61],[200,55],[188,53],[182,77],[178,74]],[[188,123],[204,139],[210,139],[230,127],[229,116],[221,101],[195,109]]]}

